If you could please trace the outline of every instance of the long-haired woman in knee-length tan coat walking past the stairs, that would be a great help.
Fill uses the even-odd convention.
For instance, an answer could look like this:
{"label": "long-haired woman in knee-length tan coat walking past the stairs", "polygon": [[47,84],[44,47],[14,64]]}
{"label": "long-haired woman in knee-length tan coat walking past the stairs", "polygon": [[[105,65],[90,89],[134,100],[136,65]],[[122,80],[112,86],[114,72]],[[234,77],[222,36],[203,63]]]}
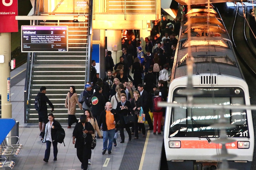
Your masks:
{"label": "long-haired woman in knee-length tan coat walking past the stairs", "polygon": [[73,123],[78,123],[78,120],[75,116],[76,103],[79,108],[82,110],[82,105],[78,102],[77,93],[75,93],[75,86],[70,86],[69,92],[67,93],[67,97],[65,100],[65,108],[68,110],[68,127],[71,128]]}

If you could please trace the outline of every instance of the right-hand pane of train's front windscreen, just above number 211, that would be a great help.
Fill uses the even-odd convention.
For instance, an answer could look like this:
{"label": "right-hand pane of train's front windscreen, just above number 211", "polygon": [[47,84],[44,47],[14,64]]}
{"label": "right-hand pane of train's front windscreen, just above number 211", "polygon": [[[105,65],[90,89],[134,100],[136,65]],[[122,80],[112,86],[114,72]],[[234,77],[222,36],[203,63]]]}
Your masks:
{"label": "right-hand pane of train's front windscreen, just above number 211", "polygon": [[[244,105],[243,97],[232,97],[231,104],[233,105]],[[231,124],[243,125],[246,124],[246,113],[242,109],[231,110]]]}

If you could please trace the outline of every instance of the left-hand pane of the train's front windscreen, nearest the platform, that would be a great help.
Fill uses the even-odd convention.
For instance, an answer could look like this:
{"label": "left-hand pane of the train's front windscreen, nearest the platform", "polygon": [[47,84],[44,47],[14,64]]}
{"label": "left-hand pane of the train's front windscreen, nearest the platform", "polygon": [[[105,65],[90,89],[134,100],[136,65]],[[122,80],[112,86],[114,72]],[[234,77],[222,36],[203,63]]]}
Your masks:
{"label": "left-hand pane of the train's front windscreen, nearest the platform", "polygon": [[[174,97],[173,103],[186,103],[186,97]],[[173,108],[173,121],[184,120],[186,117],[186,108]],[[186,124],[186,121],[181,121],[179,124]]]}

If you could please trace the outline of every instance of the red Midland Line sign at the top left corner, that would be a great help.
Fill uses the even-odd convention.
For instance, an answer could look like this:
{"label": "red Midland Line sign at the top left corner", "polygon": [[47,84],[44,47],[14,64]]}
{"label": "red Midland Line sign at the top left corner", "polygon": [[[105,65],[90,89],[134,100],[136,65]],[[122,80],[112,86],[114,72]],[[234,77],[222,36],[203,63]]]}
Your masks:
{"label": "red Midland Line sign at the top left corner", "polygon": [[18,32],[18,0],[0,0],[0,33]]}

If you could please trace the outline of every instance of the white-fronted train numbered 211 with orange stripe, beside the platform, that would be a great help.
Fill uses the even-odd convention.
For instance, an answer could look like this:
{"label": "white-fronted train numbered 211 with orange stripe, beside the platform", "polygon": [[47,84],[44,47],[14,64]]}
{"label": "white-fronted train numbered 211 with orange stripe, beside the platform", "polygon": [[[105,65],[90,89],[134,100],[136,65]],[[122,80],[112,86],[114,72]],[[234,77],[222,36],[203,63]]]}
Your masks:
{"label": "white-fronted train numbered 211 with orange stripe, beside the platform", "polygon": [[[182,16],[167,103],[187,103],[188,58],[193,57],[192,85],[200,91],[193,104],[250,105],[248,85],[239,66],[232,41],[213,5],[191,6]],[[239,36],[239,35],[237,35]],[[191,57],[190,57],[191,58]],[[233,125],[225,129],[229,168],[250,169],[254,130],[250,109],[210,109],[167,106],[164,147],[168,169],[214,170],[221,168],[220,130],[213,127],[221,117]],[[217,157],[216,157],[217,156]]]}

